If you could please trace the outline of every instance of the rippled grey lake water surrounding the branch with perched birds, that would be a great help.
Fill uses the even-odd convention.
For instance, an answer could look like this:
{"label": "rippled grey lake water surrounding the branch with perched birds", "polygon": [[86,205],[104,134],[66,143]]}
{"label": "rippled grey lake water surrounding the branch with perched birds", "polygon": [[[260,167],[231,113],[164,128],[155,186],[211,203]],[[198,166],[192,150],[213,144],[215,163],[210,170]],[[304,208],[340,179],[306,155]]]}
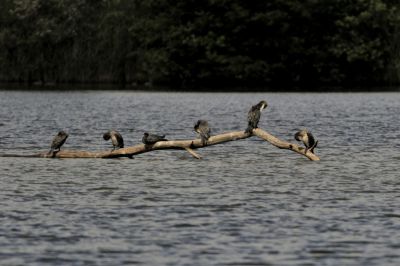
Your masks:
{"label": "rippled grey lake water surrounding the branch with perched birds", "polygon": [[399,93],[0,91],[0,154],[111,149],[144,131],[259,127],[319,140],[312,162],[253,137],[135,159],[0,158],[0,265],[400,265]]}

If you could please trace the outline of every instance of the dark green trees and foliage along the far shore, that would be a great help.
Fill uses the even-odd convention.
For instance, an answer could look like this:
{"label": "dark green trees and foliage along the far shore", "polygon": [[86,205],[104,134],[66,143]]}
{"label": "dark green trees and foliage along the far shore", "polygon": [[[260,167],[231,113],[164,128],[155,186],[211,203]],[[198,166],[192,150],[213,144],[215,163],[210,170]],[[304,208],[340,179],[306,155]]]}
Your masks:
{"label": "dark green trees and foliage along the far shore", "polygon": [[0,0],[0,80],[390,85],[394,0]]}

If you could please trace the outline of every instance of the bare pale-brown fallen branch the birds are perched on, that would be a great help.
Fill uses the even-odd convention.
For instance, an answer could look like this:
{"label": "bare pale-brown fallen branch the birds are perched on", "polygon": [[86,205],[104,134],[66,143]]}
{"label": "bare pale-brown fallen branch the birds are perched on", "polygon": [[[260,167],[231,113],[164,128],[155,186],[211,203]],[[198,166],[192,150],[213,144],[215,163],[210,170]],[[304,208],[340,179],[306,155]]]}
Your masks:
{"label": "bare pale-brown fallen branch the birds are perched on", "polygon": [[[313,154],[310,151],[307,151],[304,154],[305,149],[300,147],[297,144],[289,143],[283,140],[280,140],[268,132],[262,129],[254,129],[253,135],[258,136],[272,145],[281,148],[288,149],[294,152],[297,152],[301,155],[306,156],[308,159],[312,161],[319,161],[318,156]],[[228,141],[240,140],[251,137],[251,134],[244,133],[244,131],[236,131],[230,133],[224,133],[220,135],[212,136],[207,141],[207,146],[217,145]],[[118,149],[114,151],[101,151],[101,152],[89,152],[89,151],[73,151],[73,150],[61,150],[54,155],[45,153],[40,153],[32,156],[24,156],[24,157],[43,157],[43,158],[119,158],[119,157],[132,157],[133,155],[137,155],[140,153],[145,153],[153,150],[165,150],[165,149],[184,149],[188,151],[195,158],[200,159],[201,157],[194,152],[194,149],[203,148],[200,139],[195,140],[169,140],[169,141],[160,141],[155,143],[154,145],[144,145],[138,144],[135,146]],[[8,155],[10,157],[11,155]],[[16,156],[17,157],[17,156]]]}

